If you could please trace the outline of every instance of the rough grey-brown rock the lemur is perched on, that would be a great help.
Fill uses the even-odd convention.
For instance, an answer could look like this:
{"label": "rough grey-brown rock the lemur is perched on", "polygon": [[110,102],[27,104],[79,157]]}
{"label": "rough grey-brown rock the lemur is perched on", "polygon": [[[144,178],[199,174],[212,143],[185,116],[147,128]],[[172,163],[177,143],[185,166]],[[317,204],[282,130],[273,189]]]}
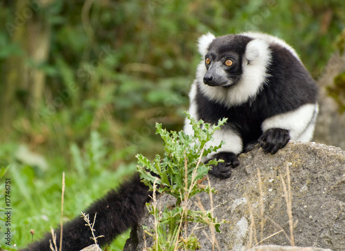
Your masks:
{"label": "rough grey-brown rock the lemur is perched on", "polygon": [[[210,177],[211,185],[217,190],[217,194],[213,194],[214,215],[227,221],[221,225],[222,232],[216,234],[220,250],[245,250],[257,244],[291,244],[287,203],[280,178],[282,176],[288,184],[286,167],[290,172],[295,245],[345,250],[344,151],[321,143],[290,141],[274,155],[265,154],[256,146],[241,154],[239,161],[241,164],[229,179]],[[210,210],[208,194],[199,197],[204,208]],[[173,203],[166,195],[159,200],[158,204],[162,205]],[[261,222],[264,222],[263,231]],[[151,216],[146,214],[142,224],[152,228]],[[188,232],[193,227],[189,225]],[[201,250],[213,250],[205,232],[210,236],[208,227],[194,230]],[[143,241],[141,225],[137,234],[137,250],[144,250],[145,243],[149,247],[152,240],[146,234]]]}

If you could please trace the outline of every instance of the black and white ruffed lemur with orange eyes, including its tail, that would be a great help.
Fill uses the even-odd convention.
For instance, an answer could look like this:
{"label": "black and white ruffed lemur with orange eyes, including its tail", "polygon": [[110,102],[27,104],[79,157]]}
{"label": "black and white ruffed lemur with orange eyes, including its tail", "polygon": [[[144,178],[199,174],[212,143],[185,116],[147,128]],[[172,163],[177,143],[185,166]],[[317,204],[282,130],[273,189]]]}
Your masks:
{"label": "black and white ruffed lemur with orange eyes, including its tail", "polygon": [[[206,123],[227,123],[215,132],[209,144],[223,146],[209,159],[224,159],[210,170],[215,177],[230,177],[239,165],[237,156],[259,143],[274,154],[289,139],[311,141],[317,117],[317,85],[293,48],[268,34],[246,32],[215,37],[205,34],[198,44],[202,61],[190,90],[192,117]],[[184,131],[193,134],[186,120]],[[86,213],[97,212],[96,236],[99,245],[110,243],[132,228],[149,201],[148,188],[136,174],[119,190],[111,190],[95,201]],[[59,230],[57,240],[59,237]],[[63,251],[79,251],[92,245],[90,230],[81,217],[63,226]],[[50,234],[26,250],[47,251]],[[59,245],[59,241],[58,245]]]}

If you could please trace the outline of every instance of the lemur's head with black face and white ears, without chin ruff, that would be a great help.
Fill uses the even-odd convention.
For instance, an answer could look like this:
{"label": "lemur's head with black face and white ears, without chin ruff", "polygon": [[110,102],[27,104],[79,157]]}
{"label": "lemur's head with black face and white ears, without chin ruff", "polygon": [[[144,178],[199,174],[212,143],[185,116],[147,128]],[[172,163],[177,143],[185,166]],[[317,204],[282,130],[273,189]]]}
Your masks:
{"label": "lemur's head with black face and white ears, without chin ruff", "polygon": [[[199,38],[198,46],[206,67],[203,81],[207,86],[235,86],[241,81],[249,64],[264,63],[265,70],[268,64],[255,62],[260,53],[267,52],[267,43],[245,35],[215,38],[208,33]],[[260,51],[262,48],[264,50]]]}

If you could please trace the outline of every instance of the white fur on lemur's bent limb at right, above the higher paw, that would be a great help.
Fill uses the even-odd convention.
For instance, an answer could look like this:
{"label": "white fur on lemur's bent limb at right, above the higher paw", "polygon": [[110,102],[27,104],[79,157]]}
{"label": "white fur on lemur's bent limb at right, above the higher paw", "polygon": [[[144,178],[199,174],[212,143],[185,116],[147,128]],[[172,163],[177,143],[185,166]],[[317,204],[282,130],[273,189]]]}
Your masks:
{"label": "white fur on lemur's bent limb at right, above the higher paw", "polygon": [[319,108],[315,103],[308,103],[300,108],[277,114],[262,123],[263,132],[271,128],[282,128],[289,131],[295,141],[311,141]]}

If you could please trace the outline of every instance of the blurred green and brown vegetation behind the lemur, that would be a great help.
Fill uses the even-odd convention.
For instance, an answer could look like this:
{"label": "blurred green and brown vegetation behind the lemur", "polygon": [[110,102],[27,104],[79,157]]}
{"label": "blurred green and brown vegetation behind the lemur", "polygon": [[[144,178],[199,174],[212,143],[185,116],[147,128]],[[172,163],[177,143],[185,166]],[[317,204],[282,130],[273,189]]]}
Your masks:
{"label": "blurred green and brown vegetation behind the lemur", "polygon": [[[201,34],[268,32],[317,78],[344,12],[343,0],[1,1],[0,210],[10,178],[11,244],[59,223],[63,171],[68,220],[135,170],[135,154],[162,151],[155,122],[181,129]],[[10,249],[2,237],[0,248]]]}

